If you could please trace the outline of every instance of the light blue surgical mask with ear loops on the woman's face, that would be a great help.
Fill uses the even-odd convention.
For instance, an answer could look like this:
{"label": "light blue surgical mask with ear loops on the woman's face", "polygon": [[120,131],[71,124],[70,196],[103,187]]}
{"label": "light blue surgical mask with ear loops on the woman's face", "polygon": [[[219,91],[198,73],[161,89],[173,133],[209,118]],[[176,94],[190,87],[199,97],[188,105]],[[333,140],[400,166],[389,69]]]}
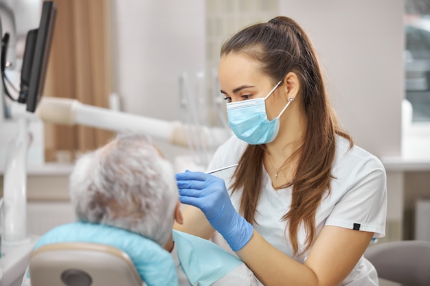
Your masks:
{"label": "light blue surgical mask with ear loops on the woman's face", "polygon": [[272,121],[267,119],[266,99],[281,82],[278,82],[266,97],[227,103],[229,126],[238,139],[251,145],[266,144],[275,140],[279,132],[279,119],[293,101],[293,97],[288,98],[288,103],[280,114]]}

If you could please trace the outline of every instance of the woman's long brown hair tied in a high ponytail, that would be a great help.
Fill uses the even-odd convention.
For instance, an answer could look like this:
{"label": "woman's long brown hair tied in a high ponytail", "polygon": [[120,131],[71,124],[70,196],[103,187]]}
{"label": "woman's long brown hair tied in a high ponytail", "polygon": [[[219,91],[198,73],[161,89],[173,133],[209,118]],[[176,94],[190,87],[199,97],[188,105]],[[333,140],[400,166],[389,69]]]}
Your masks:
{"label": "woman's long brown hair tied in a high ponytail", "polygon": [[[221,56],[228,53],[242,53],[258,60],[262,73],[273,79],[273,85],[288,72],[294,72],[299,78],[298,98],[302,101],[307,128],[301,147],[289,158],[297,158],[295,176],[280,188],[293,186],[291,206],[282,219],[287,223],[294,254],[298,252],[299,226],[304,225],[306,247],[303,251],[306,251],[315,239],[317,208],[324,194],[330,192],[336,134],[348,139],[351,145],[352,139],[339,128],[313,45],[295,21],[278,16],[268,23],[242,29],[223,45]],[[233,191],[242,189],[240,213],[253,224],[258,224],[255,213],[262,187],[264,152],[264,145],[248,145],[234,172]]]}

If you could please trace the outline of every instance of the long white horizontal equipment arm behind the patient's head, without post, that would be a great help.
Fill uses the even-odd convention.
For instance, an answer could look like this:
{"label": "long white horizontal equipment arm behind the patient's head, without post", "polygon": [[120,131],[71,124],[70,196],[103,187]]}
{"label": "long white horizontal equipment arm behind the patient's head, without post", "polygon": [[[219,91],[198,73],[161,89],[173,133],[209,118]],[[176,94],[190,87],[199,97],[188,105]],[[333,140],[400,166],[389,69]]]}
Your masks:
{"label": "long white horizontal equipment arm behind the patient's head, without post", "polygon": [[154,139],[168,141],[172,145],[186,147],[187,138],[199,132],[204,139],[199,144],[218,147],[231,135],[225,128],[186,125],[180,121],[165,121],[151,117],[82,104],[76,99],[43,97],[36,115],[45,122],[74,125],[80,124],[115,132],[142,131]]}

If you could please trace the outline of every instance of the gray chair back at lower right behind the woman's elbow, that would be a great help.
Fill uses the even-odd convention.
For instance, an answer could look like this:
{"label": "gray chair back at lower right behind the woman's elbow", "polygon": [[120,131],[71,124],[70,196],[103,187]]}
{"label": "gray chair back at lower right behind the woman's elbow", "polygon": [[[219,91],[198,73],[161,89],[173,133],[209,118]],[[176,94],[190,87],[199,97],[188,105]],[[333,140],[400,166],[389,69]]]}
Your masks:
{"label": "gray chair back at lower right behind the woman's elbow", "polygon": [[408,286],[430,285],[430,241],[392,241],[369,246],[364,253],[378,277]]}

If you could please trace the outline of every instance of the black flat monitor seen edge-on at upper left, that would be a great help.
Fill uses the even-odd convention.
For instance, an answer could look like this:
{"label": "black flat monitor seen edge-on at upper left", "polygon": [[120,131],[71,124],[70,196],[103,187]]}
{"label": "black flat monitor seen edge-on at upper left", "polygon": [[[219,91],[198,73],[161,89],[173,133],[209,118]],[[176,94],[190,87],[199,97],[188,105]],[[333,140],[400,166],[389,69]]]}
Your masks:
{"label": "black flat monitor seen edge-on at upper left", "polygon": [[44,1],[39,27],[30,30],[25,40],[19,102],[25,103],[29,112],[36,110],[42,97],[55,19],[55,3]]}

